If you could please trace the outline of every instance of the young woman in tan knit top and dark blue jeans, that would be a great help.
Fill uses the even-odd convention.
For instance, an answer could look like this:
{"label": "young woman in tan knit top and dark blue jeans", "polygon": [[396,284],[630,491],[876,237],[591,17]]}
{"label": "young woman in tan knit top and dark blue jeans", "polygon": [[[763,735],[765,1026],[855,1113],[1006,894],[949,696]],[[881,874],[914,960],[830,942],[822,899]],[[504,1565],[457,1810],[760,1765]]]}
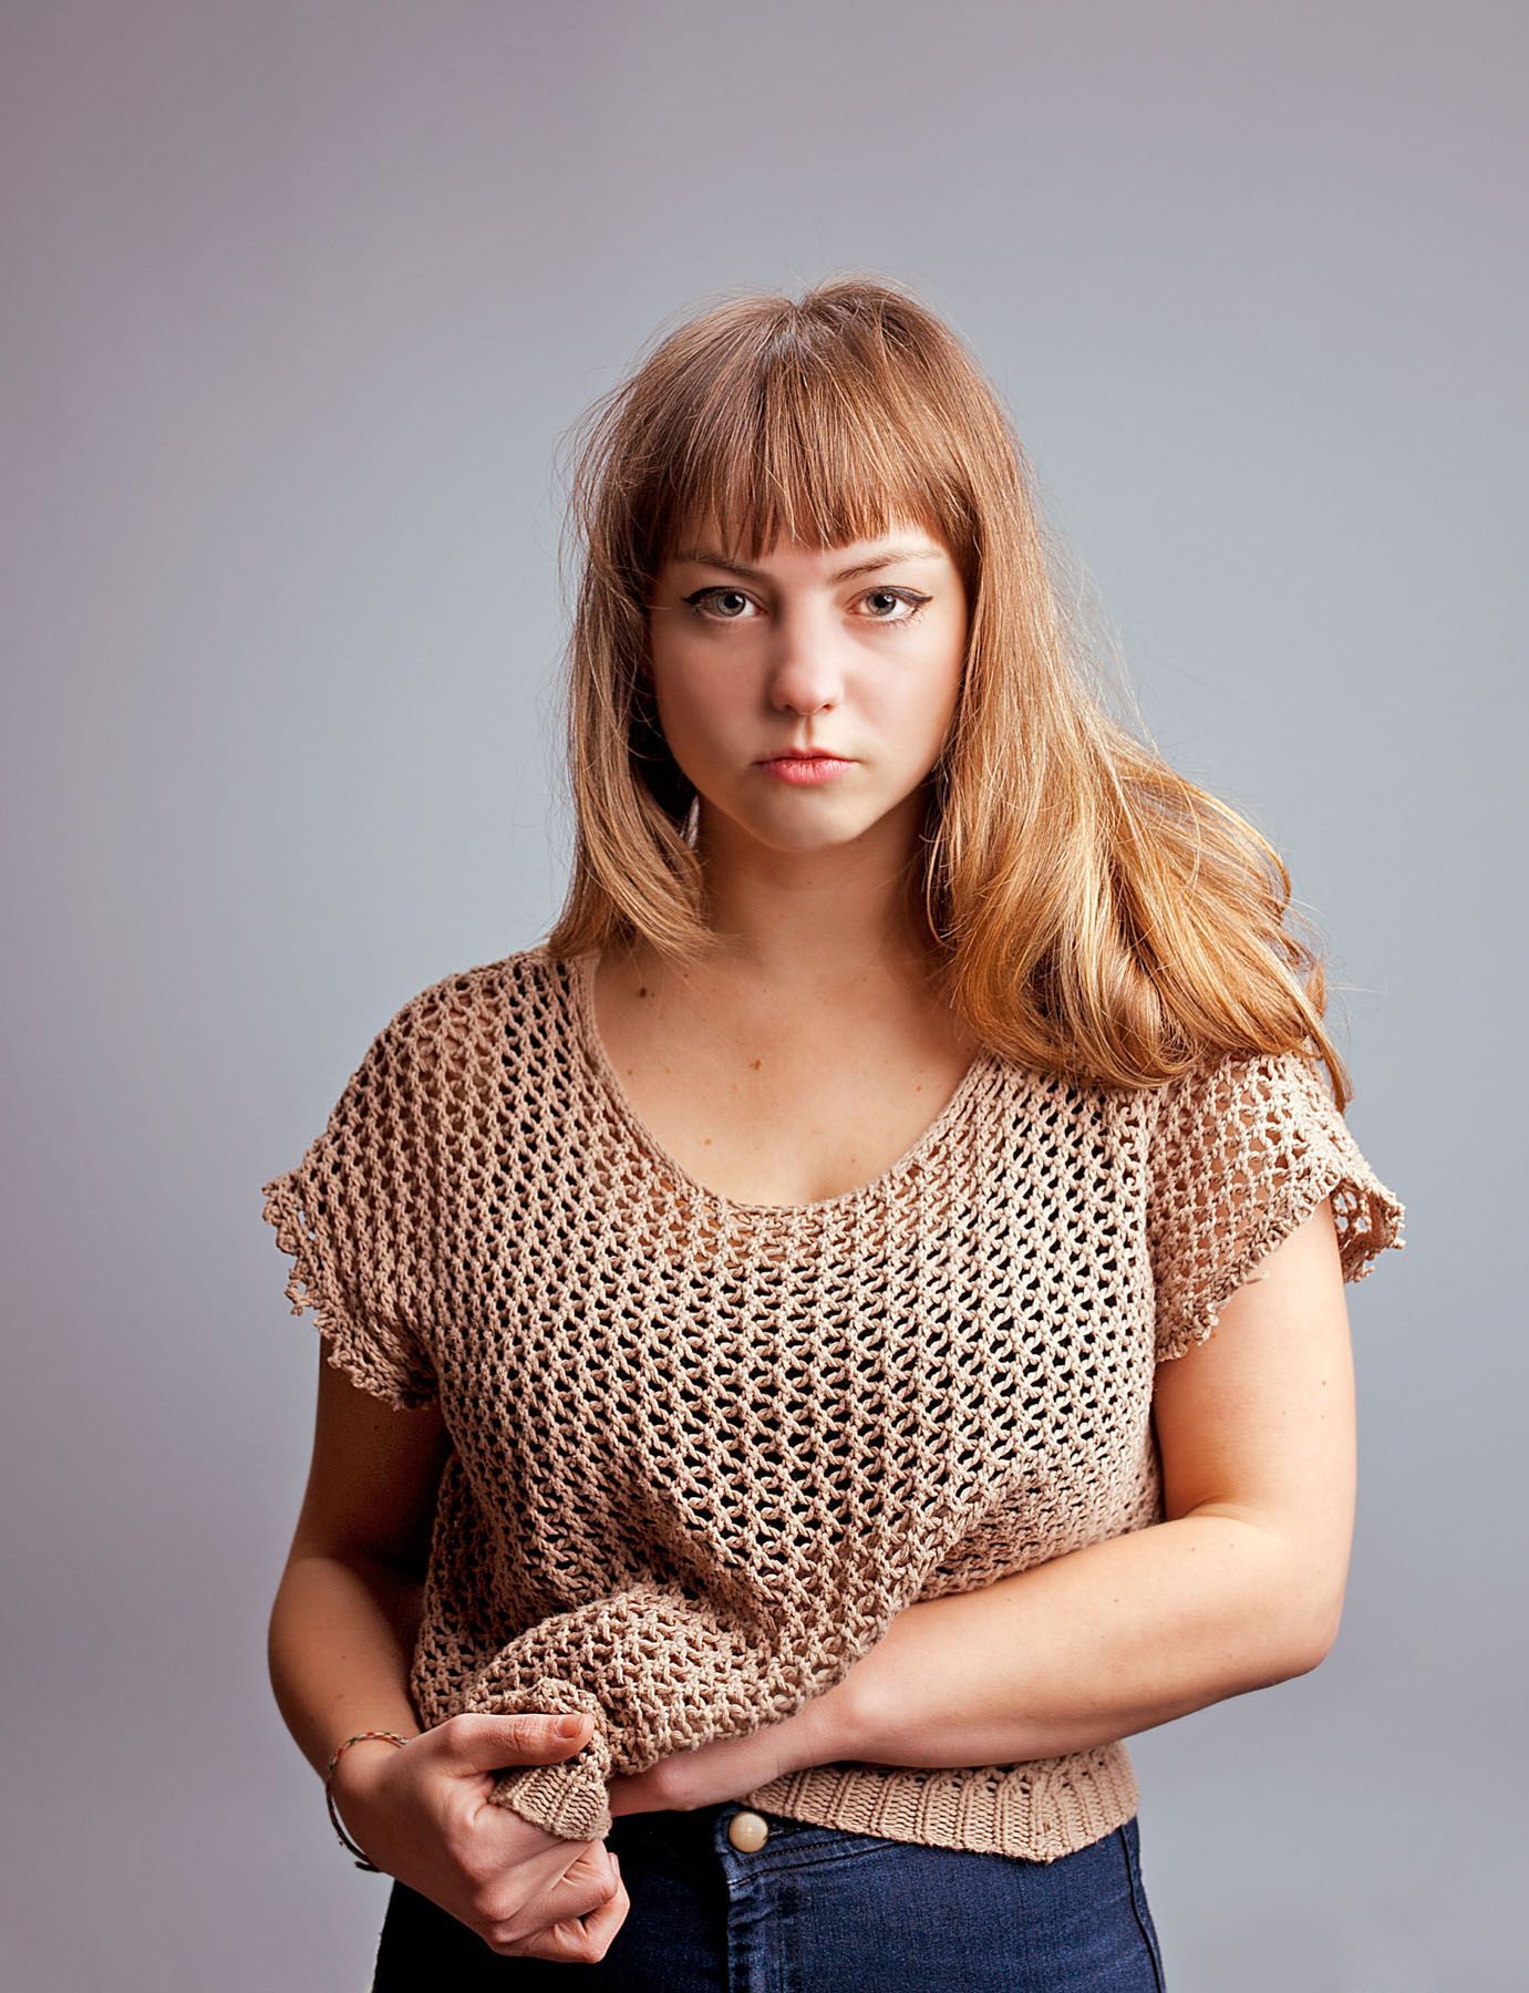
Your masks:
{"label": "young woman in tan knit top and dark blue jeans", "polygon": [[680,325],[574,516],[562,917],[265,1184],[375,1987],[1160,1989],[1122,1740],[1328,1652],[1401,1246],[1290,879],[905,289]]}

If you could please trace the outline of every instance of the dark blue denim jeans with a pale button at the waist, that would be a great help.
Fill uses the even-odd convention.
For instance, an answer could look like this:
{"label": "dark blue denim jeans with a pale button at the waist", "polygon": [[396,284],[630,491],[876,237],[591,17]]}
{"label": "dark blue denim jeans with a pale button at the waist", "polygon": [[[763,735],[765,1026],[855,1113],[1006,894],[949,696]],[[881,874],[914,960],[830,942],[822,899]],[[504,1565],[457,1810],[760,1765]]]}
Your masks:
{"label": "dark blue denim jeans with a pale button at the waist", "polygon": [[506,1959],[395,1881],[373,1993],[1164,1993],[1136,1822],[1057,1861],[843,1834],[736,1802],[622,1814],[606,1844],[632,1899],[598,1965]]}

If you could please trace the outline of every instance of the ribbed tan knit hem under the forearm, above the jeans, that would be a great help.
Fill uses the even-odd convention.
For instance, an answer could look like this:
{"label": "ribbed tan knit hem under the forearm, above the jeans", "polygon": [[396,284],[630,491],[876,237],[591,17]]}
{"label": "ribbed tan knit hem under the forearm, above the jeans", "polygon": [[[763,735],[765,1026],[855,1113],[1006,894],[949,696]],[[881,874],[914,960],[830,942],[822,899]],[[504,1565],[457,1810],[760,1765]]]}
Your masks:
{"label": "ribbed tan knit hem under the forearm, above the jeans", "polygon": [[889,1842],[1057,1861],[1124,1826],[1140,1788],[1118,1742],[1021,1766],[815,1764],[756,1786],[744,1804]]}

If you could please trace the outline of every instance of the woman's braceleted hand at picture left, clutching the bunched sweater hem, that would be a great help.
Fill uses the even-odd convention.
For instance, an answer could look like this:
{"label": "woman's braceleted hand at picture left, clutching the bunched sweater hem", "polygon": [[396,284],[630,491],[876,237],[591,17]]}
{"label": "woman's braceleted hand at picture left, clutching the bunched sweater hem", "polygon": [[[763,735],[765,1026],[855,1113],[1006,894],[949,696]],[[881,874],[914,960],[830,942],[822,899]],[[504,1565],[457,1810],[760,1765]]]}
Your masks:
{"label": "woman's braceleted hand at picture left, clutching the bunched sweater hem", "polygon": [[556,1714],[451,1716],[399,1748],[353,1744],[335,1766],[335,1804],[369,1861],[397,1875],[510,1959],[592,1965],[632,1899],[604,1842],[546,1834],[490,1806],[494,1774],[556,1764],[588,1742]]}

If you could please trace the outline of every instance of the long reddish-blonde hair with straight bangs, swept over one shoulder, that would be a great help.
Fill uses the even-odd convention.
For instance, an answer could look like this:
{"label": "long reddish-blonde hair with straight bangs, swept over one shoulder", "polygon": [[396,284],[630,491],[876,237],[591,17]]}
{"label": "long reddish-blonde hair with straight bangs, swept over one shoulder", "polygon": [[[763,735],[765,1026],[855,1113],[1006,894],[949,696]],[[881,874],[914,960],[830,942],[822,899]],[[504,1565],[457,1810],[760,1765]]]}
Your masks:
{"label": "long reddish-blonde hair with straight bangs, swept over one shoulder", "polygon": [[1128,1088],[1294,1050],[1348,1104],[1284,861],[1168,765],[1128,688],[1128,719],[1108,712],[1013,423],[917,295],[857,273],[801,299],[726,293],[660,331],[574,436],[574,859],[550,955],[642,935],[694,961],[718,939],[696,789],[648,664],[674,536],[706,520],[758,560],[781,532],[829,548],[907,520],[945,542],[967,590],[961,690],[907,875],[931,981],[965,1028],[1033,1068]]}

